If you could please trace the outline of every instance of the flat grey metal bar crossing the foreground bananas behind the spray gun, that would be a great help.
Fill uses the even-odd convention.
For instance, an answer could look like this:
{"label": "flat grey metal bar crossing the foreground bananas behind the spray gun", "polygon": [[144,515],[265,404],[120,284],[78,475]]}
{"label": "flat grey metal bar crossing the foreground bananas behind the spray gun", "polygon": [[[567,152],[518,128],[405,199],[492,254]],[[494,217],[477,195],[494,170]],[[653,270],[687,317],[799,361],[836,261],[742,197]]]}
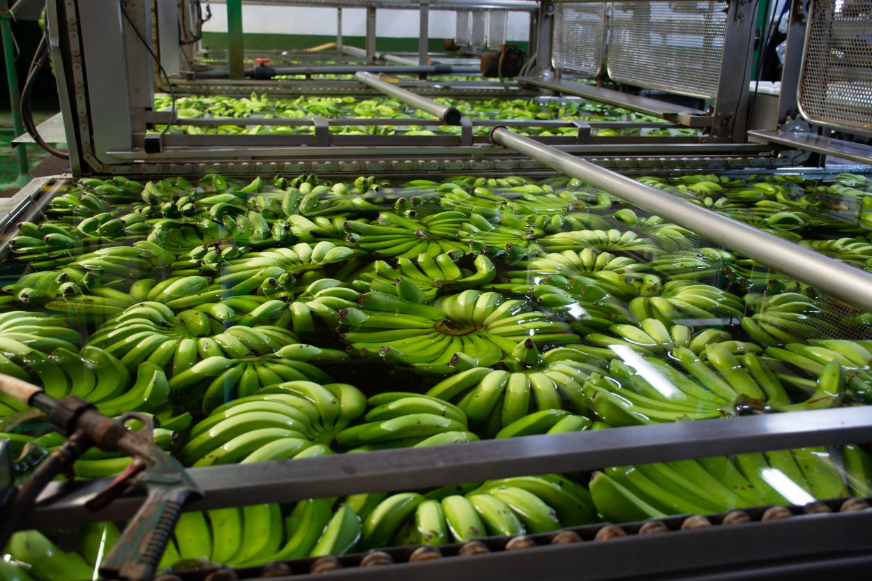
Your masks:
{"label": "flat grey metal bar crossing the foreground bananas behind the spray gun", "polygon": [[[191,468],[188,474],[206,496],[189,503],[186,509],[238,506],[241,498],[253,502],[290,502],[358,492],[423,489],[514,475],[847,444],[869,441],[870,433],[872,414],[868,407],[842,407],[256,465]],[[119,498],[99,513],[85,509],[85,502],[110,480],[52,482],[28,517],[28,526],[83,524],[132,516],[141,496]]]}

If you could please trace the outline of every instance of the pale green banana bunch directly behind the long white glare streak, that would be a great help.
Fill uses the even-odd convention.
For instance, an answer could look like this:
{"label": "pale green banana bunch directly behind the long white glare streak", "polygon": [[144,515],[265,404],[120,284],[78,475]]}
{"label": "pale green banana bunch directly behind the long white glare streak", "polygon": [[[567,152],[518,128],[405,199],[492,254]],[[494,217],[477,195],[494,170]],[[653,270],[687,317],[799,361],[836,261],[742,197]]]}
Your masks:
{"label": "pale green banana bunch directly behind the long white glare streak", "polygon": [[[717,343],[735,354],[760,353],[762,349],[754,343],[734,341],[729,332],[722,329],[704,329],[694,333],[686,325],[664,325],[657,318],[644,318],[637,325],[611,325],[609,335],[589,333],[584,340],[613,350],[613,345],[623,345],[643,355],[667,357],[678,347],[686,347],[696,355],[706,357],[707,345]],[[597,352],[597,354],[600,354]],[[613,350],[612,357],[617,356]]]}

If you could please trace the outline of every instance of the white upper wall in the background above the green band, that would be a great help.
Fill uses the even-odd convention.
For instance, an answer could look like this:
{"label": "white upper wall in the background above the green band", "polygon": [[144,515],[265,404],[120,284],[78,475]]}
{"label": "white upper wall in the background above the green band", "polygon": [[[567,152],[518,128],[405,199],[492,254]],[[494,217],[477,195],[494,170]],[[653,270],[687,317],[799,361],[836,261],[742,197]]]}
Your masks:
{"label": "white upper wall in the background above the green band", "polygon": [[[213,3],[212,18],[203,26],[207,32],[227,31],[227,10],[224,4]],[[376,35],[390,38],[418,38],[417,10],[378,10]],[[332,8],[300,8],[294,6],[242,6],[242,30],[264,34],[316,34],[336,36],[336,10]],[[453,12],[430,12],[430,38],[454,38]],[[526,40],[529,16],[525,12],[509,12],[508,39]],[[350,37],[366,36],[366,10],[342,10],[342,33]]]}

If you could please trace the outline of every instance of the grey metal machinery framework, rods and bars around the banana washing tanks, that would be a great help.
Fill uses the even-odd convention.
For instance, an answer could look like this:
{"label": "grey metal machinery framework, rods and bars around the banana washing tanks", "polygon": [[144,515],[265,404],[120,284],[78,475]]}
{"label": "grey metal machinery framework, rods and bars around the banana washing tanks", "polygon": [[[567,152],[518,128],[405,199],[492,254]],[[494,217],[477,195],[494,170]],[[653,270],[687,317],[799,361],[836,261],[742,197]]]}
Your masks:
{"label": "grey metal machinery framework, rods and bars around the banana washing tanks", "polygon": [[[264,0],[267,1],[267,0]],[[308,0],[275,3],[335,8],[365,6],[367,60],[376,56],[374,15],[378,8],[415,6],[426,31],[429,10],[469,10],[484,4],[465,0],[397,2]],[[228,0],[228,8],[233,2]],[[238,3],[235,3],[238,4]],[[458,118],[452,106],[428,99],[487,95],[487,89],[462,81],[417,79],[391,83],[365,71],[355,79],[242,80],[241,45],[231,38],[230,79],[209,79],[210,92],[244,87],[246,91],[390,94],[437,119],[428,126],[459,125],[459,134],[345,135],[332,126],[384,125],[386,120],[313,117],[260,120],[265,125],[310,126],[310,134],[192,135],[162,131],[165,126],[245,125],[246,120],[180,119],[174,111],[156,111],[154,95],[172,85],[205,86],[185,78],[181,51],[167,43],[165,11],[174,2],[106,3],[55,0],[47,5],[51,53],[58,77],[73,174],[124,175],[149,180],[160,176],[202,174],[274,175],[376,174],[398,176],[450,173],[500,175],[555,169],[572,175],[639,208],[660,215],[709,240],[737,249],[760,263],[825,291],[849,312],[872,311],[872,275],[810,249],[766,234],[708,209],[631,180],[616,170],[655,172],[664,168],[773,170],[801,172],[821,167],[826,156],[853,164],[872,162],[872,11],[846,10],[850,3],[812,0],[791,4],[787,51],[780,96],[771,116],[752,126],[760,106],[749,91],[756,3],[625,0],[622,2],[529,2],[493,0],[490,18],[501,10],[531,12],[528,66],[521,77],[504,82],[535,96],[591,99],[666,121],[666,126],[698,130],[692,136],[650,138],[597,137],[601,126],[621,122],[511,121]],[[122,9],[122,6],[124,9]],[[175,16],[175,15],[174,15]],[[495,20],[499,20],[496,18]],[[485,22],[473,18],[472,29]],[[369,22],[369,20],[368,20]],[[144,43],[142,31],[157,31],[157,42]],[[142,36],[142,38],[140,38]],[[231,34],[233,36],[233,34]],[[417,65],[426,66],[426,34]],[[462,38],[461,38],[462,40]],[[339,44],[337,42],[337,44]],[[481,44],[470,40],[470,44]],[[486,43],[487,44],[487,43]],[[160,60],[167,79],[155,66]],[[324,71],[330,65],[325,65]],[[344,70],[340,70],[344,73]],[[181,79],[172,79],[178,72]],[[416,71],[410,71],[416,72]],[[436,72],[436,71],[433,71]],[[599,85],[574,77],[599,78]],[[164,85],[168,81],[169,85]],[[205,81],[203,81],[205,82]],[[264,89],[264,90],[267,90]],[[511,93],[509,93],[511,94]],[[517,93],[515,93],[517,94]],[[419,118],[391,119],[392,126],[421,125]],[[573,126],[573,137],[524,137],[525,126]],[[643,124],[644,125],[644,124]],[[639,126],[624,122],[624,126]],[[663,124],[661,124],[663,126]],[[487,128],[487,135],[476,131]],[[805,164],[805,165],[803,165]],[[851,167],[851,166],[849,166]],[[853,166],[856,167],[856,166]],[[869,167],[857,171],[868,171]],[[48,202],[33,184],[27,203]],[[29,196],[33,196],[30,198]],[[43,197],[40,197],[43,196]],[[26,211],[25,203],[21,211]],[[9,223],[9,222],[7,222]],[[422,489],[458,482],[543,472],[578,472],[603,466],[733,455],[805,446],[834,446],[872,441],[868,407],[841,407],[729,420],[676,422],[616,427],[578,434],[554,434],[505,441],[480,441],[452,447],[397,449],[361,455],[332,455],[305,461],[191,468],[188,474],[205,497],[191,510],[239,506],[241,499],[290,502],[385,489]],[[0,466],[3,468],[3,466]],[[29,527],[121,520],[133,515],[137,496],[124,496],[99,514],[85,501],[105,480],[54,482],[27,521]],[[794,507],[794,513],[800,508]],[[712,519],[719,523],[719,518]],[[598,525],[599,526],[599,525]],[[569,543],[528,550],[493,550],[475,559],[442,558],[405,563],[405,549],[392,550],[398,562],[368,569],[355,567],[360,556],[345,557],[346,568],[333,578],[803,578],[820,571],[841,571],[851,578],[872,562],[872,511],[819,514],[778,522],[745,523],[735,528],[674,530],[665,535],[630,535],[610,543]],[[680,522],[671,523],[673,529]],[[601,528],[601,527],[600,527]],[[579,528],[584,540],[594,528]],[[452,555],[446,550],[446,556]],[[308,563],[308,562],[307,562]],[[308,566],[308,565],[307,565]],[[805,567],[802,572],[799,567]],[[181,573],[199,579],[209,571]],[[257,577],[255,570],[237,571]]]}

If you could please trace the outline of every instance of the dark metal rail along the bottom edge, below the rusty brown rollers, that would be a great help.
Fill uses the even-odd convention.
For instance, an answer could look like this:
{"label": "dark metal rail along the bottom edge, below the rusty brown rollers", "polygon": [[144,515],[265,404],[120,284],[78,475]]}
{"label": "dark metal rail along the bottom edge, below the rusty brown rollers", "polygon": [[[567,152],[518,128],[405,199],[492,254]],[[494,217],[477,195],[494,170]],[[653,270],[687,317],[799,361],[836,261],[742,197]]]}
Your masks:
{"label": "dark metal rail along the bottom edge, below the rusty brown rollers", "polygon": [[[762,510],[751,509],[758,516]],[[759,516],[758,516],[759,517]],[[697,579],[739,581],[747,579],[810,579],[808,572],[845,571],[835,578],[868,577],[872,561],[869,527],[872,511],[821,515],[797,515],[786,519],[739,526],[714,524],[697,530],[677,530],[685,516],[662,520],[670,529],[655,535],[640,535],[637,523],[623,524],[630,532],[608,543],[591,542],[603,524],[570,527],[580,543],[550,544],[553,533],[532,535],[536,546],[505,550],[506,537],[481,539],[490,552],[474,558],[457,555],[458,545],[439,547],[444,558],[407,563],[415,545],[388,548],[396,564],[361,567],[360,555],[344,556],[345,567],[331,571],[330,579],[351,581],[444,581],[445,579],[536,579],[537,581],[585,581],[605,579]],[[714,517],[712,522],[718,522]],[[820,527],[820,528],[818,528]],[[728,548],[728,550],[726,550]],[[315,557],[290,561],[299,574],[309,571]],[[840,566],[841,565],[841,566]],[[254,573],[256,570],[249,570]],[[207,571],[185,575],[195,581]],[[777,573],[780,573],[778,575]],[[240,575],[240,577],[248,577]],[[296,576],[295,576],[296,578]],[[305,579],[319,577],[304,577]],[[818,577],[814,577],[818,578]]]}

